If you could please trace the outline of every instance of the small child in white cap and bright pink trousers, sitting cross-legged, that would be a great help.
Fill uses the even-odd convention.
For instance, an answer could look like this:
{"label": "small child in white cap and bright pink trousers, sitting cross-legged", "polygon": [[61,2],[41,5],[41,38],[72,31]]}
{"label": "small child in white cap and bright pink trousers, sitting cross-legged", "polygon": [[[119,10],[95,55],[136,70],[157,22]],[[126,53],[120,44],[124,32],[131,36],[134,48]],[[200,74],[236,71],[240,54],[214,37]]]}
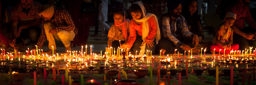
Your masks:
{"label": "small child in white cap and bright pink trousers, sitting cross-legged", "polygon": [[230,28],[235,22],[236,14],[228,12],[225,16],[224,22],[216,29],[216,36],[210,50],[215,52],[229,54],[231,50],[238,50],[239,45],[233,44],[233,29]]}

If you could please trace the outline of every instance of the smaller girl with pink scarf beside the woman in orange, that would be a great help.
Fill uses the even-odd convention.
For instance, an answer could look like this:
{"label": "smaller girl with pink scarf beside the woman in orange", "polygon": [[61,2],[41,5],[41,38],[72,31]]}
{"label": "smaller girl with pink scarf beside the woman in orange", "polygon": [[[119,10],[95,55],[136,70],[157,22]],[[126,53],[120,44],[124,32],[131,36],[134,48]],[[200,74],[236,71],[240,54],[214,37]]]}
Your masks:
{"label": "smaller girl with pink scarf beside the woman in orange", "polygon": [[107,45],[117,49],[120,47],[120,43],[126,43],[129,38],[129,22],[130,19],[125,19],[125,11],[121,8],[114,10],[113,17],[115,23],[108,31]]}

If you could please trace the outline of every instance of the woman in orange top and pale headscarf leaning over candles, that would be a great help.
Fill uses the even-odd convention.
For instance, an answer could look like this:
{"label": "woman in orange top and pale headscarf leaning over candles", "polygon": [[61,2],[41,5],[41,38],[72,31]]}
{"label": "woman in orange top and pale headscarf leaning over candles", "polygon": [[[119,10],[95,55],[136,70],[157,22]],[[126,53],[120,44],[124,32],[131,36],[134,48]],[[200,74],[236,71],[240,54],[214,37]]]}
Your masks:
{"label": "woman in orange top and pale headscarf leaning over candles", "polygon": [[125,44],[121,45],[121,48],[131,49],[132,53],[139,53],[139,55],[144,55],[146,50],[150,50],[154,54],[156,44],[160,40],[160,31],[156,16],[152,13],[146,13],[141,2],[133,3],[130,13],[133,17],[129,23],[130,37]]}

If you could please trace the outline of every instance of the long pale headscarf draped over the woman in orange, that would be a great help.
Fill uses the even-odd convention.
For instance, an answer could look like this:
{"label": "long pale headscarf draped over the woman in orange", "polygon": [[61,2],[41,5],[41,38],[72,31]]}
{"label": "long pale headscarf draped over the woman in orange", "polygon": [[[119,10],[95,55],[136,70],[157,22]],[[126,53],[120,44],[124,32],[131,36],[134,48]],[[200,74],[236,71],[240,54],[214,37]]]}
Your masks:
{"label": "long pale headscarf draped over the woman in orange", "polygon": [[142,10],[142,13],[143,13],[143,18],[142,19],[134,19],[135,21],[137,22],[143,22],[142,24],[142,44],[140,46],[140,55],[144,55],[145,53],[145,47],[146,47],[146,37],[149,35],[149,23],[148,23],[148,19],[151,17],[151,16],[154,16],[155,17],[155,21],[156,21],[156,24],[157,24],[157,29],[156,29],[156,35],[155,35],[155,39],[156,39],[156,44],[158,44],[158,41],[161,39],[160,37],[160,30],[159,30],[159,25],[158,25],[158,20],[157,20],[157,17],[155,16],[155,14],[152,14],[152,13],[148,13],[147,15],[145,15],[146,13],[146,9],[144,8],[143,4],[141,2],[135,2],[133,4],[138,4]]}

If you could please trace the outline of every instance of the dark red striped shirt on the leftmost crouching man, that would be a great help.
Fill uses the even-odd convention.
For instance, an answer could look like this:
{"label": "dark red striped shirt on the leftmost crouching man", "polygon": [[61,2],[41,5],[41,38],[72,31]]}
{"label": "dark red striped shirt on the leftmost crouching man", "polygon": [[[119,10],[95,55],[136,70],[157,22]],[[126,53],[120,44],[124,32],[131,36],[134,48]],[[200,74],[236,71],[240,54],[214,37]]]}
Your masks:
{"label": "dark red striped shirt on the leftmost crouching man", "polygon": [[19,24],[26,24],[28,22],[34,21],[35,18],[41,18],[37,14],[37,8],[41,6],[41,3],[33,1],[29,12],[26,14],[22,12],[21,4],[15,5],[10,12],[10,20],[18,20]]}

